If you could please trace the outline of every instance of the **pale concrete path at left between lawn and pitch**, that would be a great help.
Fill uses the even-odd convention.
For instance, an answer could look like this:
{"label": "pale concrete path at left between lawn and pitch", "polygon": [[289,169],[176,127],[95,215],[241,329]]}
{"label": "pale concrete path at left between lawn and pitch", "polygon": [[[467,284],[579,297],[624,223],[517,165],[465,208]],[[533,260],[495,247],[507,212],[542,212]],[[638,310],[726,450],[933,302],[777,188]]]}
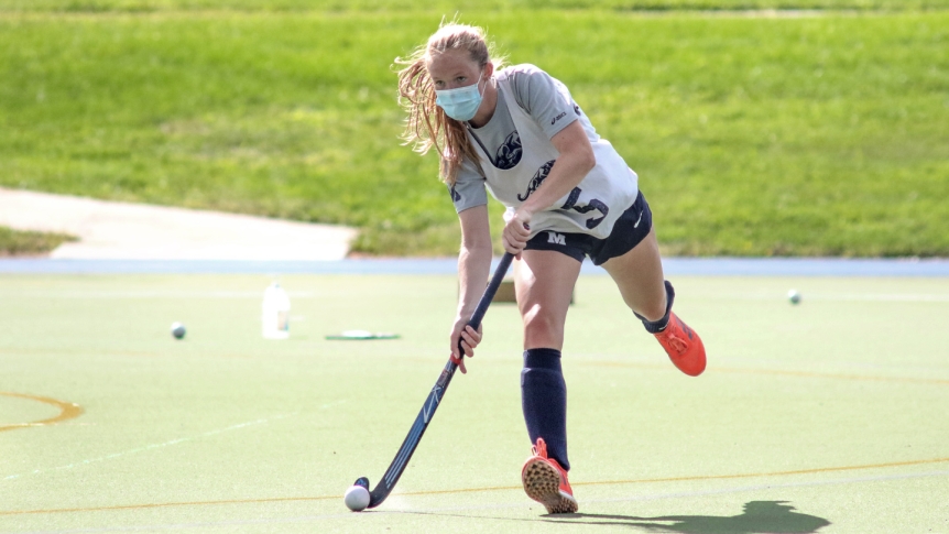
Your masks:
{"label": "pale concrete path at left between lawn and pitch", "polygon": [[54,259],[332,261],[352,228],[0,188],[0,226],[65,232]]}

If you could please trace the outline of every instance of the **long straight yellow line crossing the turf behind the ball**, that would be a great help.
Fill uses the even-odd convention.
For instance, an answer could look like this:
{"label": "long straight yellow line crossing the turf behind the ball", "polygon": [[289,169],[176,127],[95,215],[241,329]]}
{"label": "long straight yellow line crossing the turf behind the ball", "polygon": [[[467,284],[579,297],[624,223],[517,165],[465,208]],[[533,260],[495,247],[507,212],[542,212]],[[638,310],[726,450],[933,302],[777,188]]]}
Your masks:
{"label": "long straight yellow line crossing the turf behind the ball", "polygon": [[[652,478],[639,480],[608,480],[593,482],[571,482],[571,486],[606,486],[606,484],[640,484],[650,482],[681,482],[690,480],[727,480],[737,478],[763,478],[763,477],[787,477],[792,475],[812,475],[820,472],[833,471],[855,471],[860,469],[882,469],[887,467],[906,467],[920,466],[925,464],[945,464],[949,462],[949,458],[935,458],[929,460],[908,460],[908,461],[892,461],[887,464],[868,464],[864,466],[839,466],[839,467],[819,467],[814,469],[797,469],[793,471],[774,471],[774,472],[752,472],[744,475],[702,475],[695,477],[672,477],[672,478]],[[475,493],[483,491],[511,491],[521,490],[521,486],[495,486],[488,488],[458,488],[454,490],[432,490],[432,491],[410,491],[400,493],[400,495],[439,495],[447,493]],[[268,502],[293,502],[293,501],[327,501],[331,499],[340,499],[340,495],[321,495],[321,497],[274,497],[264,499],[230,499],[222,501],[189,501],[189,502],[160,502],[150,504],[123,504],[117,506],[91,506],[91,508],[61,508],[48,510],[14,510],[0,512],[3,515],[28,515],[28,514],[46,514],[46,513],[72,513],[72,512],[106,512],[120,510],[146,510],[155,508],[171,506],[207,506],[217,504],[258,504]]]}

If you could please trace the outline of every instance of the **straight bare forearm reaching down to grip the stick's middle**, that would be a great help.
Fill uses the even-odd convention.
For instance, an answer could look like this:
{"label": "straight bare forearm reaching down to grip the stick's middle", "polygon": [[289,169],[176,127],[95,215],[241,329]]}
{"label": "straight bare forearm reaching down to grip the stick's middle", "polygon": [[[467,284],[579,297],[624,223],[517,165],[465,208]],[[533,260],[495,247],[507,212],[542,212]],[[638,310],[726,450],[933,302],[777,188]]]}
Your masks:
{"label": "straight bare forearm reaching down to grip the stick's middle", "polygon": [[488,206],[475,206],[458,214],[461,221],[461,251],[458,254],[458,314],[449,338],[451,356],[458,361],[462,373],[468,372],[458,351],[458,341],[465,356],[475,356],[475,347],[481,341],[481,333],[467,326],[484,293],[484,284],[491,272],[491,230]]}

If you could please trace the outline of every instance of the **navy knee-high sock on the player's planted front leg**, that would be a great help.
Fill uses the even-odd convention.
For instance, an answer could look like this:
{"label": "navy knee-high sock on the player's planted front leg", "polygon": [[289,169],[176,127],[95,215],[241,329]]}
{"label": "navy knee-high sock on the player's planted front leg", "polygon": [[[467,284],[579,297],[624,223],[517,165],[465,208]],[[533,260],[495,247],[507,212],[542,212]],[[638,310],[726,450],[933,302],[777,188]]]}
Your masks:
{"label": "navy knee-high sock on the player's planted front leg", "polygon": [[567,383],[560,369],[560,351],[528,349],[524,351],[524,370],[521,371],[521,408],[531,443],[543,437],[547,456],[564,469],[567,460]]}

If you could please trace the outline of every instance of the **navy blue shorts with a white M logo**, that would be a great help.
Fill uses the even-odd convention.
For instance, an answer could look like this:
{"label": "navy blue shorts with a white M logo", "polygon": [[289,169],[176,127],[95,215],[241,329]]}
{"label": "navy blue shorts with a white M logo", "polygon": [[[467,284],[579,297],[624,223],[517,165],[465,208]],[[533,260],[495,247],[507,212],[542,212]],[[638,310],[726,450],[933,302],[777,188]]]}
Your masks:
{"label": "navy blue shorts with a white M logo", "polygon": [[610,258],[617,258],[633,250],[648,236],[653,228],[653,212],[643,196],[636,196],[636,201],[613,226],[613,231],[607,239],[597,239],[588,233],[565,233],[542,230],[527,241],[525,250],[556,250],[582,262],[590,257],[595,265],[602,265]]}

